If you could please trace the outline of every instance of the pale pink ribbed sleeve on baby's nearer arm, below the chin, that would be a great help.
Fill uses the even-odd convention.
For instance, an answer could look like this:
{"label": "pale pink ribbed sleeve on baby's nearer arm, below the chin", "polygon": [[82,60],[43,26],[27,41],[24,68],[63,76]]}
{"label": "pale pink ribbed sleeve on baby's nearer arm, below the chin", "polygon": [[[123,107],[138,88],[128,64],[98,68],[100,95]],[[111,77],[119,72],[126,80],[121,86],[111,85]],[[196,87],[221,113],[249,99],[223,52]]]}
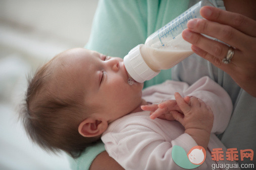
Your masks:
{"label": "pale pink ribbed sleeve on baby's nearer arm, below the chin", "polygon": [[194,139],[184,133],[168,142],[149,127],[137,123],[104,133],[101,139],[109,155],[125,169],[183,169],[173,161],[172,148],[179,145],[187,153],[197,145]]}

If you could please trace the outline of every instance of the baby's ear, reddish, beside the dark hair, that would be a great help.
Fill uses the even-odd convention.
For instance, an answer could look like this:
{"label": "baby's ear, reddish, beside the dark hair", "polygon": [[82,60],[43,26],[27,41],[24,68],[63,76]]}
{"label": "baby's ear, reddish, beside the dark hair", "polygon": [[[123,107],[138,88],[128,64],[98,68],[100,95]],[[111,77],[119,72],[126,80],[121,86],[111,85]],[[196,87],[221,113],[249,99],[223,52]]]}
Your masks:
{"label": "baby's ear, reddish, beside the dark hair", "polygon": [[103,134],[107,128],[107,121],[99,121],[94,118],[87,118],[78,126],[78,132],[84,137],[94,137]]}

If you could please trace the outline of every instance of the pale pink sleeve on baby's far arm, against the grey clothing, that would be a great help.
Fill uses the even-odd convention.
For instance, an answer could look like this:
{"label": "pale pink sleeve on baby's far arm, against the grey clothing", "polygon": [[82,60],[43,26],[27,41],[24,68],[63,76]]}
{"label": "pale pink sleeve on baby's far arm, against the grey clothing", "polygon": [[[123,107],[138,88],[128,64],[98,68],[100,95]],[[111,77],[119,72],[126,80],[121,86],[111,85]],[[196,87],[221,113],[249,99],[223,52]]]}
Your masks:
{"label": "pale pink sleeve on baby's far arm, against the grey clothing", "polygon": [[232,101],[228,93],[209,77],[202,77],[184,89],[184,96],[195,96],[211,107],[214,113],[212,132],[220,134],[228,126],[232,114]]}

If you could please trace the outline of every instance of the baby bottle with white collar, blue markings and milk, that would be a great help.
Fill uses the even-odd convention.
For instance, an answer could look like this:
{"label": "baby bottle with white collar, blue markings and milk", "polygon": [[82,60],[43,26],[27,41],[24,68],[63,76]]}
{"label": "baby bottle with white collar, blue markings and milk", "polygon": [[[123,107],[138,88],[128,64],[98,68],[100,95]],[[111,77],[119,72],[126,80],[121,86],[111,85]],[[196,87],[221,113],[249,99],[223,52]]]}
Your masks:
{"label": "baby bottle with white collar, blue markings and milk", "polygon": [[203,0],[192,6],[173,21],[151,34],[145,44],[139,44],[124,57],[124,65],[133,80],[142,83],[157,76],[161,70],[177,65],[191,55],[191,44],[182,38],[182,31],[193,18],[202,18],[203,6],[213,6]]}

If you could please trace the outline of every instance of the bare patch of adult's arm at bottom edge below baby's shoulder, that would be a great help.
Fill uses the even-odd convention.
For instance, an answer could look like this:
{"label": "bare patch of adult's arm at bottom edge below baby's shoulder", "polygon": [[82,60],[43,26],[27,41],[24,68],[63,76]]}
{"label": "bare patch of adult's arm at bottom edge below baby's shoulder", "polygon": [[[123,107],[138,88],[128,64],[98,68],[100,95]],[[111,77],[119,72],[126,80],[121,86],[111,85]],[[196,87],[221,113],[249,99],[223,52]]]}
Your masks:
{"label": "bare patch of adult's arm at bottom edge below baby's shoulder", "polygon": [[92,161],[90,170],[121,170],[124,169],[115,159],[109,156],[108,152],[103,151]]}

